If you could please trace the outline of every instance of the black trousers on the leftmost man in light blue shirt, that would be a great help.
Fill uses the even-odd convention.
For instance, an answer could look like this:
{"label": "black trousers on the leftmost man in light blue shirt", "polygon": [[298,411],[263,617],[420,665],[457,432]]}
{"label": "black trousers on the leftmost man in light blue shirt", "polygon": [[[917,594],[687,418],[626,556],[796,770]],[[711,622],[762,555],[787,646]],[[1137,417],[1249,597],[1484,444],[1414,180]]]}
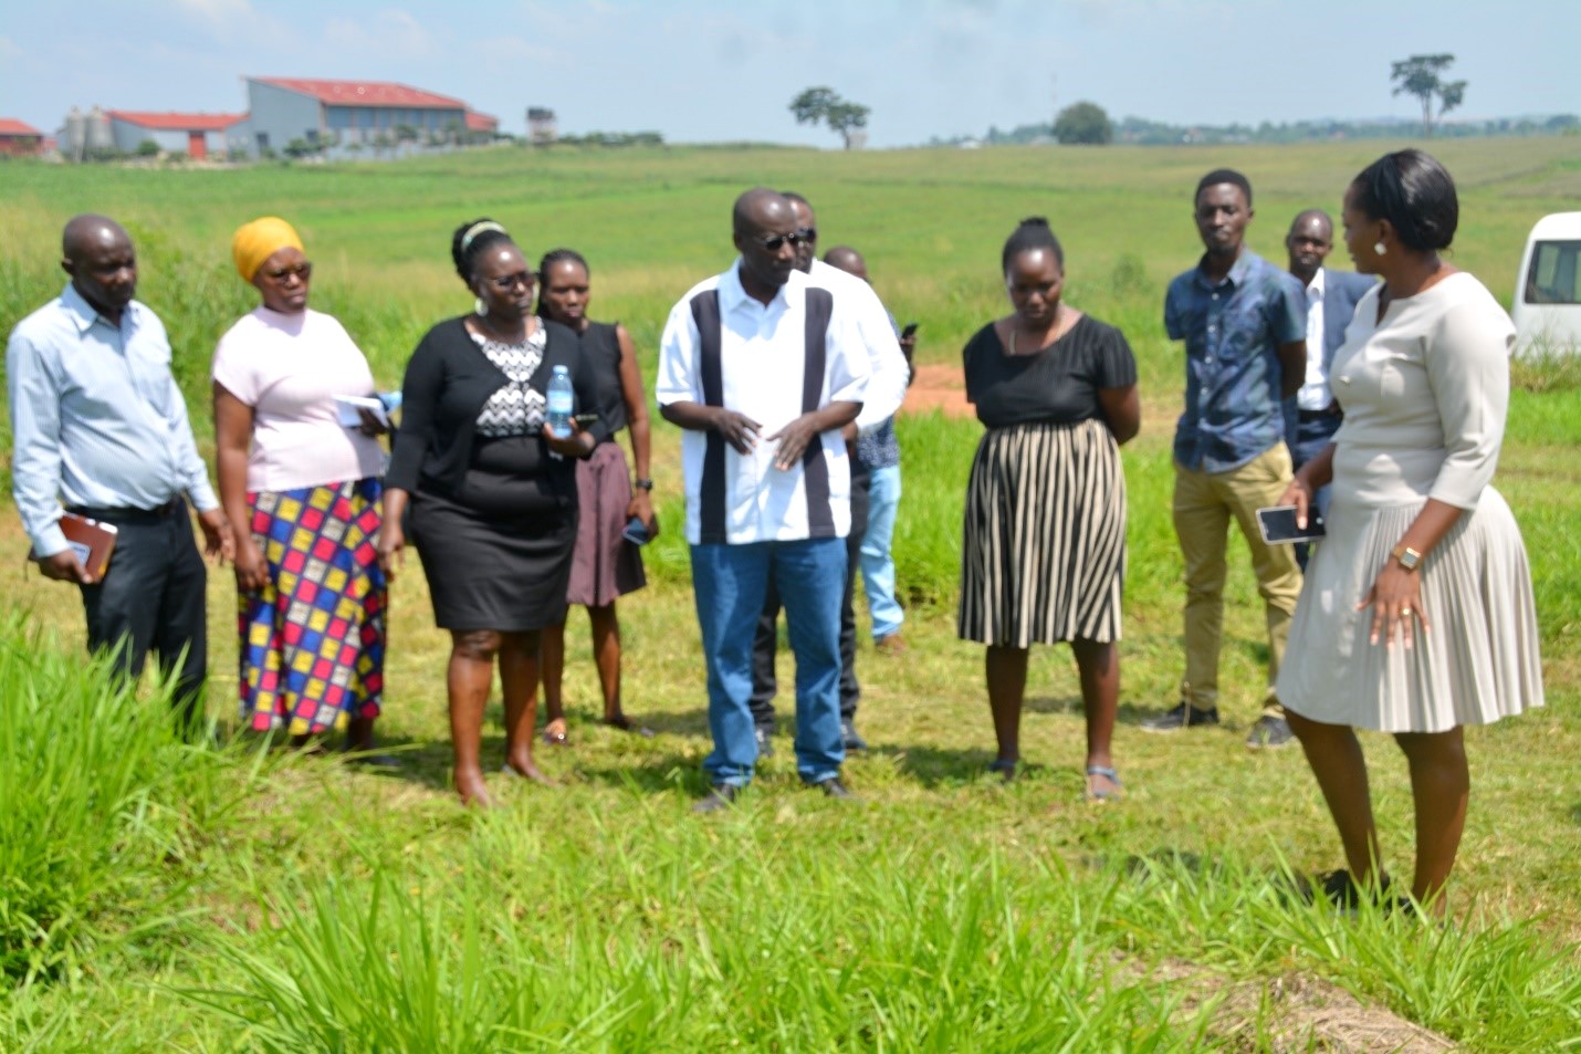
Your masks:
{"label": "black trousers on the leftmost man in light blue shirt", "polygon": [[160,673],[175,674],[177,717],[194,728],[209,674],[207,570],[193,538],[187,502],[155,511],[73,508],[117,529],[104,578],[79,586],[89,649],[114,652],[115,673],[136,681],[152,650]]}

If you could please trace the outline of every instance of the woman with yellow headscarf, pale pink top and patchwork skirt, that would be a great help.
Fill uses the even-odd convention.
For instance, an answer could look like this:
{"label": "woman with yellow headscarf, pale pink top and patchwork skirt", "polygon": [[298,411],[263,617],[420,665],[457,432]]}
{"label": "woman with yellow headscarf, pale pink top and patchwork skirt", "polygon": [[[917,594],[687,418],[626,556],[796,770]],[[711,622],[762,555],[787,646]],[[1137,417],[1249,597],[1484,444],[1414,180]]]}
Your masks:
{"label": "woman with yellow headscarf, pale pink top and patchwork skirt", "polygon": [[373,373],[341,324],[308,309],[313,264],[289,223],[247,223],[231,255],[262,298],[213,353],[220,503],[237,525],[242,715],[297,745],[345,730],[348,750],[383,764],[367,752],[384,693],[384,451],[372,419],[349,427],[337,404],[373,396]]}

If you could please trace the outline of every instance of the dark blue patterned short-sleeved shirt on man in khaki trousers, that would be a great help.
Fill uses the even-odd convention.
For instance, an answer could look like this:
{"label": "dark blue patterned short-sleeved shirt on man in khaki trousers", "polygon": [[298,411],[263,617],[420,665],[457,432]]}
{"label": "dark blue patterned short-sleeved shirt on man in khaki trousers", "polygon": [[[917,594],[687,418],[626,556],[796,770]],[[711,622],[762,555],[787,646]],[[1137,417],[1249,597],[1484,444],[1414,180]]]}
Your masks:
{"label": "dark blue patterned short-sleeved shirt on man in khaki trousers", "polygon": [[1219,282],[1202,264],[1170,282],[1164,328],[1186,342],[1175,461],[1230,472],[1284,438],[1279,345],[1306,339],[1306,290],[1249,248]]}

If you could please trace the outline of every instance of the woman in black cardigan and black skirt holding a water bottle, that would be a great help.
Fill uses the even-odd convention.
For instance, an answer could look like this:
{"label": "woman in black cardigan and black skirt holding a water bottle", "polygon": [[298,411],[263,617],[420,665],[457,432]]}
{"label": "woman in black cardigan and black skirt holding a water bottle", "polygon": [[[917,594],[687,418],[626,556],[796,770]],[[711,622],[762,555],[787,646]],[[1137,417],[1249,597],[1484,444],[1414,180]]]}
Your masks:
{"label": "woman in black cardigan and black skirt holding a water bottle", "polygon": [[538,638],[566,617],[577,536],[572,459],[593,453],[604,426],[572,424],[560,438],[544,424],[557,366],[571,372],[582,407],[594,405],[596,392],[577,369],[577,336],[533,315],[533,272],[504,228],[493,220],[457,228],[451,258],[477,310],[430,329],[406,364],[379,560],[392,573],[411,530],[435,622],[451,631],[455,790],[463,802],[487,806],[477,752],[496,658],[504,771],[547,782],[533,763]]}

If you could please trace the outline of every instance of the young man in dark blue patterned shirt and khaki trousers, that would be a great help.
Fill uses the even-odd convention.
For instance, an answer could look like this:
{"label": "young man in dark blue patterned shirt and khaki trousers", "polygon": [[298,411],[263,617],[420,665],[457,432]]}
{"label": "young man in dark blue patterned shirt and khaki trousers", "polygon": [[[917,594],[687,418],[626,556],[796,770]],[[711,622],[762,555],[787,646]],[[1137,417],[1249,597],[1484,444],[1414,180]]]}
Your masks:
{"label": "young man in dark blue patterned shirt and khaki trousers", "polygon": [[1257,510],[1290,483],[1282,400],[1306,372],[1306,293],[1287,272],[1246,248],[1252,187],[1232,169],[1197,184],[1197,231],[1206,247],[1170,283],[1164,326],[1186,342],[1186,411],[1175,430],[1175,533],[1186,563],[1186,676],[1175,709],[1148,731],[1219,723],[1219,643],[1224,627],[1230,519],[1252,551],[1268,620],[1268,693],[1247,747],[1290,742],[1274,677],[1301,592],[1289,544],[1266,544]]}

